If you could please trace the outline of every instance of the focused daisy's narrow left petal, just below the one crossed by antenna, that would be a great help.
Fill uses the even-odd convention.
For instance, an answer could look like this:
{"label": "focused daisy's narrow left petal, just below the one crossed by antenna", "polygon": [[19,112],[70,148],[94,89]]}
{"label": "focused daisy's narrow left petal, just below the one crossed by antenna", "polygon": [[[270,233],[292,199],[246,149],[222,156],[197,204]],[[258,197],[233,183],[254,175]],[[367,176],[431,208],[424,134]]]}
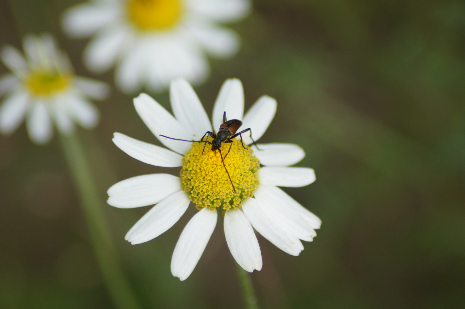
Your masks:
{"label": "focused daisy's narrow left petal, just below the one crossed by antenna", "polygon": [[127,135],[113,133],[113,143],[131,157],[147,164],[163,167],[181,166],[182,156],[163,147],[142,142]]}

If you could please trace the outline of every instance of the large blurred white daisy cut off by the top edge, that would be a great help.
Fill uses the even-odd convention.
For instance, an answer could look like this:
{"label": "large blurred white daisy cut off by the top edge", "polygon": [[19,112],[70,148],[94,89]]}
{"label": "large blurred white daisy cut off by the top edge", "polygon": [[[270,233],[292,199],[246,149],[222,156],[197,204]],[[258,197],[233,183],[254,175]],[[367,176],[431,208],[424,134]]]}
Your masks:
{"label": "large blurred white daisy cut off by the top edge", "polygon": [[116,66],[123,92],[142,85],[165,89],[178,77],[199,84],[209,74],[205,54],[228,58],[239,37],[218,23],[242,19],[249,0],[93,0],[68,9],[65,32],[74,38],[94,35],[84,62],[94,73]]}

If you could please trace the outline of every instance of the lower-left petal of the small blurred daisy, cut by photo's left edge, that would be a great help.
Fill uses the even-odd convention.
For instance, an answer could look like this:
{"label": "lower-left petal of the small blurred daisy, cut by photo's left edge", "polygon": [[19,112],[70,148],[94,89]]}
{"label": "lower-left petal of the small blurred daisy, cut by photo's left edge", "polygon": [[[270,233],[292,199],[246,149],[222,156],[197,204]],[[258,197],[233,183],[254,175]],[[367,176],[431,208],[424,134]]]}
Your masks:
{"label": "lower-left petal of the small blurred daisy, cut by photo's left edge", "polygon": [[0,106],[0,130],[3,134],[10,134],[24,119],[29,95],[27,92],[16,92],[5,99]]}

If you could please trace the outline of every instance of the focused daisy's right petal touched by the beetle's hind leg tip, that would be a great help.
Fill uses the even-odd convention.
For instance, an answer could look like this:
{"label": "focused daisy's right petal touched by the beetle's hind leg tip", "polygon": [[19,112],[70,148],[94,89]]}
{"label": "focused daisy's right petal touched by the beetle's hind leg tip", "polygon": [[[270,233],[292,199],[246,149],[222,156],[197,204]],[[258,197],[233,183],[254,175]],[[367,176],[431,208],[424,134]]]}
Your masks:
{"label": "focused daisy's right petal touched by the beetle's hind leg tip", "polygon": [[289,166],[298,163],[305,157],[305,151],[299,145],[288,143],[271,143],[251,145],[253,154],[260,163],[267,166]]}

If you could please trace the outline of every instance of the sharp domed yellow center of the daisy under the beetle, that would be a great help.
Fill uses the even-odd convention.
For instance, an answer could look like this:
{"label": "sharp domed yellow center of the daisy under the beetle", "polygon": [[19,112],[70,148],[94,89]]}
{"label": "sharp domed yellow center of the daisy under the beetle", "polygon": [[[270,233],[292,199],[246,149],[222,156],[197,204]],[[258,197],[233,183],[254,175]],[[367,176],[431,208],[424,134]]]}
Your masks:
{"label": "sharp domed yellow center of the daisy under the beetle", "polygon": [[[209,138],[209,141],[212,141],[212,138]],[[182,189],[189,193],[197,209],[239,208],[240,202],[246,197],[252,197],[253,191],[260,184],[257,177],[260,169],[259,159],[253,156],[250,147],[246,146],[244,149],[238,139],[234,140],[231,152],[225,159],[226,168],[236,188],[234,192],[219,151],[212,151],[212,146],[206,145],[202,154],[204,145],[192,143],[191,150],[182,158]],[[228,152],[230,145],[221,145],[223,156]]]}

